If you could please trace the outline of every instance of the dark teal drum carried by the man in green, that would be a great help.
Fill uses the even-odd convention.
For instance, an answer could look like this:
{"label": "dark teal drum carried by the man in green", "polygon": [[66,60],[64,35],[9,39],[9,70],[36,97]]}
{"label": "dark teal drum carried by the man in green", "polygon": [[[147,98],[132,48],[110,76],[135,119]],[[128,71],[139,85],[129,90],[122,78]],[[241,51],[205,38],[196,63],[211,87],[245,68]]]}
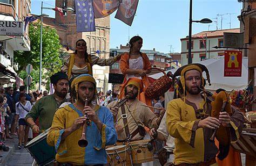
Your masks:
{"label": "dark teal drum carried by the man in green", "polygon": [[31,156],[35,158],[38,165],[46,165],[55,160],[55,147],[49,146],[46,142],[49,131],[50,128],[46,129],[45,132],[36,136],[36,138],[29,141],[25,146]]}

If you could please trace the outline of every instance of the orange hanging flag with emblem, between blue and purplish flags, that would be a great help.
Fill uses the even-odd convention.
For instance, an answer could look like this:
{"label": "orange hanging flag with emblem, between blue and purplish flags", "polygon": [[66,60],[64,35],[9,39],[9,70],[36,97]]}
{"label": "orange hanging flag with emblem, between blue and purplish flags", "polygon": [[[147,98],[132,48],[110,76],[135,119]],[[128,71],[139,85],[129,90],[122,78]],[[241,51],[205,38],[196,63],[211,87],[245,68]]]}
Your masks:
{"label": "orange hanging flag with emblem, between blue and purplish flags", "polygon": [[118,0],[93,0],[93,9],[95,18],[103,18],[109,16],[119,6]]}

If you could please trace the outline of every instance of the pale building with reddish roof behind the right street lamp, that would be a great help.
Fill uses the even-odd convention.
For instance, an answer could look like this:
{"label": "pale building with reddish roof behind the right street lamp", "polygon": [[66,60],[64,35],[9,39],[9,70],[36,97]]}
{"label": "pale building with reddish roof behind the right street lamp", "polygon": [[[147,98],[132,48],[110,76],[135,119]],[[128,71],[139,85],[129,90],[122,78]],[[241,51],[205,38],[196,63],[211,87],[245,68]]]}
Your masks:
{"label": "pale building with reddish roof behind the right street lamp", "polygon": [[[223,47],[224,32],[239,33],[239,28],[217,31],[203,31],[192,35],[191,56],[192,62],[197,63],[205,59],[210,59],[224,55],[224,48],[215,49],[212,47]],[[188,61],[188,37],[180,39],[181,41],[181,65]]]}

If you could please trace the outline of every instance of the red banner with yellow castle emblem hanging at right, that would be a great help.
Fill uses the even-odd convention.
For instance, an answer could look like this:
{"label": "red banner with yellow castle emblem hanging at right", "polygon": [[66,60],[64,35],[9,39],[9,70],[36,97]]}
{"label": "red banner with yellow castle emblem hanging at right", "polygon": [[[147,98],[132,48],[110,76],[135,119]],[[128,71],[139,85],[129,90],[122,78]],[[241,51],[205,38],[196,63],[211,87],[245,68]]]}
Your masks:
{"label": "red banner with yellow castle emblem hanging at right", "polygon": [[241,77],[242,52],[227,50],[224,55],[224,77]]}

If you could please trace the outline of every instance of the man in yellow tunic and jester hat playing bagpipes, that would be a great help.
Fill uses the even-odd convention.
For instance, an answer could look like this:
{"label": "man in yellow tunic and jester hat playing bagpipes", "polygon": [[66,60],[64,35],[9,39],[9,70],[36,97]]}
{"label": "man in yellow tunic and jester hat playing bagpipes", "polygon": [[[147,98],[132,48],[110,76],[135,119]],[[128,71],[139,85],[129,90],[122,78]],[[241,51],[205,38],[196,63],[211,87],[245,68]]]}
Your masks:
{"label": "man in yellow tunic and jester hat playing bagpipes", "polygon": [[203,71],[210,84],[210,75],[202,64],[188,64],[174,73],[175,77],[180,76],[177,92],[183,96],[171,100],[166,111],[167,131],[175,138],[175,165],[218,165],[215,161],[218,148],[214,141],[210,141],[214,129],[220,125],[227,127],[230,141],[236,141],[242,129],[244,118],[237,110],[233,110],[232,116],[220,112],[219,119],[209,116],[211,104],[206,100],[206,94],[202,96],[200,93],[206,83]]}

